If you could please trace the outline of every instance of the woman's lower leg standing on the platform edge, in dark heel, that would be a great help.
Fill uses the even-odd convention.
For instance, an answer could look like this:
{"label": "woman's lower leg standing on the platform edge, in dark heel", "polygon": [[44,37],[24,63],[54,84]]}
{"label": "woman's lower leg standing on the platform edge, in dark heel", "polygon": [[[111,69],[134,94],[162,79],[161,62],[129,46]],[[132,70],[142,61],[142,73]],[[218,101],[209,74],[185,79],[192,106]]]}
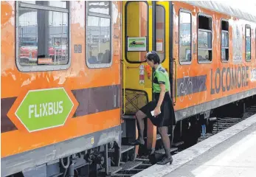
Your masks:
{"label": "woman's lower leg standing on the platform edge, in dark heel", "polygon": [[157,162],[157,164],[167,164],[168,162],[172,163],[173,158],[170,155],[170,138],[168,136],[168,127],[159,127],[158,130],[162,138],[162,143],[164,144],[165,147],[166,157],[162,159],[162,162]]}

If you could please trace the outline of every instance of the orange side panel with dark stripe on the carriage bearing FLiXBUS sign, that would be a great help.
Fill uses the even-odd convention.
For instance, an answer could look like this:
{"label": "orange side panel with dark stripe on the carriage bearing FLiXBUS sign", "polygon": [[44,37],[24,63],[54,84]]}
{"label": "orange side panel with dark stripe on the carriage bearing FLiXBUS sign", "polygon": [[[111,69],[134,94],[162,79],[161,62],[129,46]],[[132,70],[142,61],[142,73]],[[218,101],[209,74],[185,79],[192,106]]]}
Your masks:
{"label": "orange side panel with dark stripe on the carriage bearing FLiXBUS sign", "polygon": [[[69,69],[20,72],[15,65],[15,2],[1,2],[3,12],[7,14],[1,17],[1,158],[120,127],[121,5],[120,2],[114,1],[111,6],[114,11],[111,18],[114,25],[111,24],[111,29],[116,27],[115,36],[110,35],[113,41],[111,48],[114,51],[111,66],[100,69],[87,66],[86,6],[83,2],[71,1]],[[78,45],[81,48],[76,52]],[[60,87],[65,88],[66,92],[74,97],[75,107],[69,114],[69,119],[63,126],[28,133],[15,116],[16,108],[24,99],[24,95],[30,90]]]}

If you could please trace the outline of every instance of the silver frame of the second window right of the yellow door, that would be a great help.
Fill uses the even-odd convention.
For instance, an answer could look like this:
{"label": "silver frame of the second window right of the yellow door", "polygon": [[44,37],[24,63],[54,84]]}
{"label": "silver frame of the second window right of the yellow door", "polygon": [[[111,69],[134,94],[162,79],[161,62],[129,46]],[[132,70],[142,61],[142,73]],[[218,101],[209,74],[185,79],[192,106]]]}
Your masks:
{"label": "silver frame of the second window right of the yellow door", "polygon": [[[203,15],[203,16],[205,16],[205,17],[207,17],[207,18],[211,18],[211,22],[212,22],[212,16],[211,15],[208,15],[208,14],[206,14],[206,13],[198,13],[198,15],[197,15],[197,36],[196,36],[196,40],[197,40],[197,61],[198,61],[198,64],[205,64],[205,63],[212,63],[212,60],[204,60],[204,61],[202,61],[202,60],[198,60],[198,49],[199,49],[199,45],[198,45],[198,31],[199,31],[199,15]],[[212,27],[212,29],[213,29],[213,23],[211,23],[212,25],[211,25],[211,27]],[[201,31],[205,31],[205,32],[211,32],[211,34],[213,33],[213,30],[203,30],[203,29],[201,29]],[[211,35],[211,37],[213,36],[213,34]],[[213,38],[211,38],[212,39],[212,41],[213,41]],[[211,41],[211,42],[212,42]],[[211,45],[212,46],[212,45]],[[206,49],[207,50],[207,49]],[[212,59],[213,59],[213,49],[212,49]]]}

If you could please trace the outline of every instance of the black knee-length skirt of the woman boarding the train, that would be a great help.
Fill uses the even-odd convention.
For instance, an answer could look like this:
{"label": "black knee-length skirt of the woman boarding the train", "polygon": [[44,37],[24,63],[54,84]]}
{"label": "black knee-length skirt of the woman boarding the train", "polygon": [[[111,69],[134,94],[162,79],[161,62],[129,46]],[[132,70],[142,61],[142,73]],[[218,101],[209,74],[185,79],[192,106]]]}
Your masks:
{"label": "black knee-length skirt of the woman boarding the train", "polygon": [[159,93],[155,93],[154,100],[140,108],[140,111],[142,111],[144,114],[147,115],[149,119],[151,119],[153,125],[157,127],[171,126],[171,128],[173,128],[172,125],[176,125],[176,119],[173,109],[173,102],[170,98],[170,94],[168,91],[165,92],[165,97],[162,101],[162,105],[160,108],[161,114],[159,114],[157,117],[153,117],[151,114],[151,111],[156,108],[159,96]]}

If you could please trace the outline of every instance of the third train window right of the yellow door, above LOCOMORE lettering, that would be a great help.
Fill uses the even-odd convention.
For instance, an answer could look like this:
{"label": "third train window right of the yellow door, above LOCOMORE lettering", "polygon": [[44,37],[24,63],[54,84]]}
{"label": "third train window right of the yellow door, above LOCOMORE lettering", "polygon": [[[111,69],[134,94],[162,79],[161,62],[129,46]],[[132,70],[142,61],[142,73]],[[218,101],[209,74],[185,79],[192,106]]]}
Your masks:
{"label": "third train window right of the yellow door, above LOCOMORE lettering", "polygon": [[221,60],[229,60],[229,22],[221,20]]}

